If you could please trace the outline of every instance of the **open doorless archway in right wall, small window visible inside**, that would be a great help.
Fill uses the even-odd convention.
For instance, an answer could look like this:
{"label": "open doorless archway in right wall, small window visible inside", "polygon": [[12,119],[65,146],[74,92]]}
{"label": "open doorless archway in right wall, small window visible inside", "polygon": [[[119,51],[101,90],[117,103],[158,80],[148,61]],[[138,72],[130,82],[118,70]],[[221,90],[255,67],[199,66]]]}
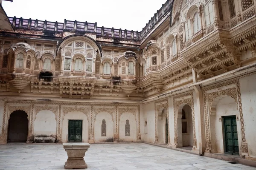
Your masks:
{"label": "open doorless archway in right wall, small window visible inside", "polygon": [[177,147],[193,147],[193,121],[192,109],[189,105],[184,105],[177,118],[178,145]]}

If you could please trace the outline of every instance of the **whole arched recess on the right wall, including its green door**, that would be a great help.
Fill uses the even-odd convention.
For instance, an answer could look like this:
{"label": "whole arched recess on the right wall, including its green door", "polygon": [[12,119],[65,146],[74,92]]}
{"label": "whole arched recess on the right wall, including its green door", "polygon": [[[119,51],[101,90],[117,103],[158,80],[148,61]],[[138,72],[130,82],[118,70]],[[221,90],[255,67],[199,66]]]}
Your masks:
{"label": "whole arched recess on the right wall, including its green door", "polygon": [[239,155],[241,134],[239,111],[231,96],[213,100],[210,112],[211,153]]}

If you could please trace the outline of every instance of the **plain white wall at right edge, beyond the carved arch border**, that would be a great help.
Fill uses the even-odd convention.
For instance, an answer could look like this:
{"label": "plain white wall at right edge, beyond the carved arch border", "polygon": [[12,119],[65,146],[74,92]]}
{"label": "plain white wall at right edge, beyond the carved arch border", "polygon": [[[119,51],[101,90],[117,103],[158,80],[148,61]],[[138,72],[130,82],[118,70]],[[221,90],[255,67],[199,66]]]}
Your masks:
{"label": "plain white wall at right edge, beyond the carved arch border", "polygon": [[239,79],[248,155],[256,158],[256,75]]}

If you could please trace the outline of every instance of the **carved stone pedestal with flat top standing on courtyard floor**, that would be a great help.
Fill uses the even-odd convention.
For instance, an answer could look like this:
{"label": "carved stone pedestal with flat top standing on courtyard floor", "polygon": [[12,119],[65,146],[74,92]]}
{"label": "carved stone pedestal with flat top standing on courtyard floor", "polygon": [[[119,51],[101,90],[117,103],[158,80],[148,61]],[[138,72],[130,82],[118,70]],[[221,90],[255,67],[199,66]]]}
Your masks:
{"label": "carved stone pedestal with flat top standing on courtyard floor", "polygon": [[84,161],[85,152],[90,147],[89,143],[63,143],[68,159],[65,162],[65,169],[87,168]]}

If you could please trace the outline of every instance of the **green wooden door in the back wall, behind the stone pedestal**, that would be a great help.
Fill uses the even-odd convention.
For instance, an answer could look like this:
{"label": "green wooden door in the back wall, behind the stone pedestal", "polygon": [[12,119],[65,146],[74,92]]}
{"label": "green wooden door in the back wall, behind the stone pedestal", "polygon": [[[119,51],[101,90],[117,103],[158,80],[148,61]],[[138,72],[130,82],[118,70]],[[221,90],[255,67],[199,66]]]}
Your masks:
{"label": "green wooden door in the back wall, behind the stone pedestal", "polygon": [[82,142],[82,120],[68,120],[68,142]]}

